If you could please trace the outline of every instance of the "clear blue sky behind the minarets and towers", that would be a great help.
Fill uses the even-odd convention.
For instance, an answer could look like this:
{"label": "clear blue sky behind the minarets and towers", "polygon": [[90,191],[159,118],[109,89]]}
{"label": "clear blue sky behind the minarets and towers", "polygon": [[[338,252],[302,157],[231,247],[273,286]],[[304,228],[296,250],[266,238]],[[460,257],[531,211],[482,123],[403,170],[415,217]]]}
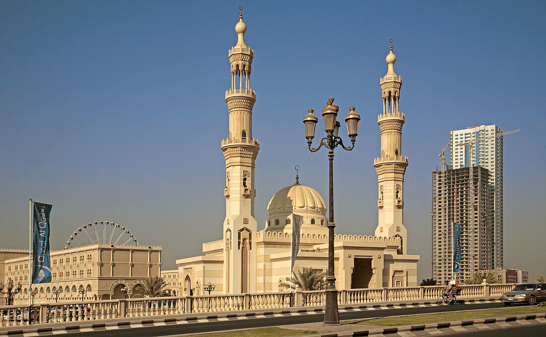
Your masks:
{"label": "clear blue sky behind the minarets and towers", "polygon": [[[505,137],[505,265],[546,274],[546,5],[533,2],[0,2],[0,247],[28,245],[28,199],[54,204],[51,246],[111,220],[162,245],[163,268],[221,238],[224,91],[238,6],[254,49],[256,217],[300,182],[328,195],[326,152],[301,122],[335,97],[360,114],[335,157],[336,232],[377,224],[379,78],[394,40],[406,114],[408,251],[430,276],[431,172],[449,131]],[[345,135],[345,126],[340,134]]]}

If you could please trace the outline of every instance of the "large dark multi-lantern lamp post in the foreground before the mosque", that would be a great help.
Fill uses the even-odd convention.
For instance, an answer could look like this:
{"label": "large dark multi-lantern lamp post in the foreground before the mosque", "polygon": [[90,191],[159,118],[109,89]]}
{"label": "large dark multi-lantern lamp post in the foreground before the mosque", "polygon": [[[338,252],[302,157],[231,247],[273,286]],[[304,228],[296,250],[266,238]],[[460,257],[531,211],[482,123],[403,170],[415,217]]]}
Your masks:
{"label": "large dark multi-lantern lamp post in the foreground before the mosque", "polygon": [[324,324],[339,324],[339,311],[337,310],[337,289],[335,286],[336,277],[334,275],[334,149],[337,145],[341,145],[344,150],[351,151],[354,148],[354,142],[358,135],[358,121],[360,116],[354,112],[354,108],[349,108],[349,114],[345,116],[347,123],[347,133],[351,138],[351,146],[344,146],[340,137],[337,137],[340,122],[336,120],[339,107],[334,104],[334,98],[329,98],[328,103],[322,110],[324,117],[324,126],[326,137],[321,139],[321,143],[316,148],[311,148],[314,138],[314,129],[317,125],[318,118],[313,115],[313,110],[308,110],[307,116],[304,117],[305,138],[309,151],[318,151],[323,145],[328,149],[328,160],[330,162],[330,191],[329,199],[329,219],[328,219],[328,277],[326,287],[326,306],[324,310]]}

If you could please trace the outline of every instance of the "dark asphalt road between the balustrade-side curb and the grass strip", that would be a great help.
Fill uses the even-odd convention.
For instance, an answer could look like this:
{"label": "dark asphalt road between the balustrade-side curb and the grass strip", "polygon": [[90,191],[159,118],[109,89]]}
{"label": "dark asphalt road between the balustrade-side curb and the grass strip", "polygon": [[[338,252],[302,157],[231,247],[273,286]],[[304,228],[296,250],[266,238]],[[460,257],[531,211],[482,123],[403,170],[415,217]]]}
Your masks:
{"label": "dark asphalt road between the balustrade-side curb and the grass strip", "polygon": [[[476,310],[476,309],[491,309],[501,308],[502,303],[486,303],[486,304],[456,304],[449,306],[425,306],[420,308],[401,308],[401,309],[383,309],[383,310],[364,310],[353,312],[340,312],[340,320],[359,320],[369,317],[387,317],[396,315],[412,315],[412,314],[429,314],[431,312],[446,312],[458,310]],[[234,321],[217,321],[206,323],[193,324],[176,324],[158,327],[143,327],[130,329],[103,330],[86,333],[71,333],[70,336],[78,337],[148,337],[148,336],[168,336],[181,335],[189,333],[201,332],[217,332],[222,330],[234,330],[244,328],[259,328],[259,327],[274,327],[284,326],[288,324],[313,323],[322,322],[323,314],[302,315],[302,316],[287,316],[287,317],[270,317],[270,318],[252,318],[248,320]]]}

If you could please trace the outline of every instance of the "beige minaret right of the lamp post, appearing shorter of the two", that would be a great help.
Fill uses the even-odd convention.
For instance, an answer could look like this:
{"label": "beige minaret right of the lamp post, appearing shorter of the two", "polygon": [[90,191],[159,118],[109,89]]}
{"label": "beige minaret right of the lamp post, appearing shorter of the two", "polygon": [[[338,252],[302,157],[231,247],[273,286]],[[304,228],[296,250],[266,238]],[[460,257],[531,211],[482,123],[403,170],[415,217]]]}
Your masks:
{"label": "beige minaret right of the lamp post, appearing shorter of the two", "polygon": [[381,128],[381,157],[373,159],[379,185],[377,200],[379,218],[375,235],[388,238],[400,237],[401,252],[406,254],[407,230],[403,225],[403,182],[408,157],[402,157],[402,125],[405,117],[398,107],[402,78],[394,73],[396,56],[393,54],[392,44],[385,61],[389,68],[387,74],[379,79],[383,92],[383,113],[377,116],[377,124]]}

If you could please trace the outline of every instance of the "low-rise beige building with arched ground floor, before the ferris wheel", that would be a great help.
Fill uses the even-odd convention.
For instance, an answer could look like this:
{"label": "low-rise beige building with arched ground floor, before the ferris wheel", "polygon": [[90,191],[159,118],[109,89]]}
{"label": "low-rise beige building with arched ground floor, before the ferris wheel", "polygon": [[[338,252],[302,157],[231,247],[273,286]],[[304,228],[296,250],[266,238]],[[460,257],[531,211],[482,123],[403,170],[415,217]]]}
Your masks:
{"label": "low-rise beige building with arched ground floor, before the ferris wheel", "polygon": [[[141,295],[141,280],[160,274],[161,252],[161,246],[98,244],[51,251],[51,282],[32,285],[34,303],[55,301],[55,291],[58,301],[78,300],[80,289],[86,300],[124,298],[122,288],[129,290],[128,297]],[[28,262],[28,250],[0,250],[2,281],[22,285],[14,304],[28,303]]]}

